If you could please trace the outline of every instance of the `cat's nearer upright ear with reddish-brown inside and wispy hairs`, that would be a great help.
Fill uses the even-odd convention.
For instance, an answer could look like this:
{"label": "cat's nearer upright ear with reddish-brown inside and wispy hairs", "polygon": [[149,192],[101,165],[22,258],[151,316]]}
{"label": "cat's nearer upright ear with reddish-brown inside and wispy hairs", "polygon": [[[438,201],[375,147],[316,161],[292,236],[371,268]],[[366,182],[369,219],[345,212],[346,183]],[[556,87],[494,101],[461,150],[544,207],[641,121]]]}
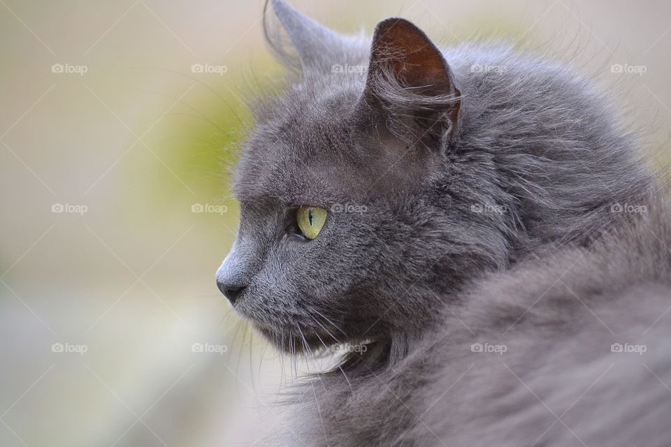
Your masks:
{"label": "cat's nearer upright ear with reddish-brown inside and wispy hairs", "polygon": [[438,47],[414,24],[393,17],[375,28],[360,108],[395,133],[435,146],[459,129],[461,92]]}

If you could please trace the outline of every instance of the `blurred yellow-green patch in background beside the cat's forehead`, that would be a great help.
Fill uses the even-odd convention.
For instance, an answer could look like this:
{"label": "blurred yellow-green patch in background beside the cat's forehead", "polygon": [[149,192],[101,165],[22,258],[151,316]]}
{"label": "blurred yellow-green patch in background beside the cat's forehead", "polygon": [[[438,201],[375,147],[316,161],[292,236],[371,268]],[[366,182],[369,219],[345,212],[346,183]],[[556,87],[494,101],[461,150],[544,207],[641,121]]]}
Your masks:
{"label": "blurred yellow-green patch in background beside the cat's forehead", "polygon": [[[243,95],[250,91],[250,85],[264,85],[266,75],[276,71],[277,64],[267,55],[254,64],[254,72],[261,73],[259,82],[237,70],[223,75],[167,73],[184,82],[174,91],[159,93],[161,107],[173,108],[147,123],[147,129],[155,123],[143,138],[151,151],[140,147],[129,161],[124,196],[132,200],[124,204],[124,211],[154,220],[192,219],[192,207],[207,205],[210,212],[201,213],[198,219],[208,221],[212,229],[219,228],[222,219],[235,228],[238,204],[231,197],[229,184],[240,144],[252,126],[252,113]],[[189,85],[192,88],[180,98]],[[226,211],[219,212],[222,208]]]}

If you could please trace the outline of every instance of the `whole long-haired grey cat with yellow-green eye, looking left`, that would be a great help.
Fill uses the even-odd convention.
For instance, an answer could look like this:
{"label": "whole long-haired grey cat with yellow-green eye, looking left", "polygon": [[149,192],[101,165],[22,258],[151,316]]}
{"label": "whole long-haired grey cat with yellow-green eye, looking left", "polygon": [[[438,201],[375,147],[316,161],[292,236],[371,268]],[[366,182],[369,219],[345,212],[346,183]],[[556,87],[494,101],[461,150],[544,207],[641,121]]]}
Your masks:
{"label": "whole long-haired grey cat with yellow-green eye, looking left", "polygon": [[270,8],[289,82],[254,103],[217,284],[280,349],[347,347],[273,443],[669,446],[671,214],[609,98]]}

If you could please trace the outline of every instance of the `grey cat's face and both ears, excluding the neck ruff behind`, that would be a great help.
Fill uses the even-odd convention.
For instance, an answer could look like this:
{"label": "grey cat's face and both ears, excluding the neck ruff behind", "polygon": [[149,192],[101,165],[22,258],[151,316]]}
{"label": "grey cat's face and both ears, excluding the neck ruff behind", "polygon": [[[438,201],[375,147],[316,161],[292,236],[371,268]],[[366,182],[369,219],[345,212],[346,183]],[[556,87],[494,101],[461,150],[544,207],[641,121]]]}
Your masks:
{"label": "grey cat's face and both ears, excluding the neck ruff behind", "polygon": [[465,198],[479,173],[459,163],[454,74],[407,20],[380,22],[366,41],[271,3],[301,70],[243,149],[240,228],[219,288],[284,349],[426,326],[433,293],[506,256],[491,229],[505,217],[473,212],[486,191]]}

